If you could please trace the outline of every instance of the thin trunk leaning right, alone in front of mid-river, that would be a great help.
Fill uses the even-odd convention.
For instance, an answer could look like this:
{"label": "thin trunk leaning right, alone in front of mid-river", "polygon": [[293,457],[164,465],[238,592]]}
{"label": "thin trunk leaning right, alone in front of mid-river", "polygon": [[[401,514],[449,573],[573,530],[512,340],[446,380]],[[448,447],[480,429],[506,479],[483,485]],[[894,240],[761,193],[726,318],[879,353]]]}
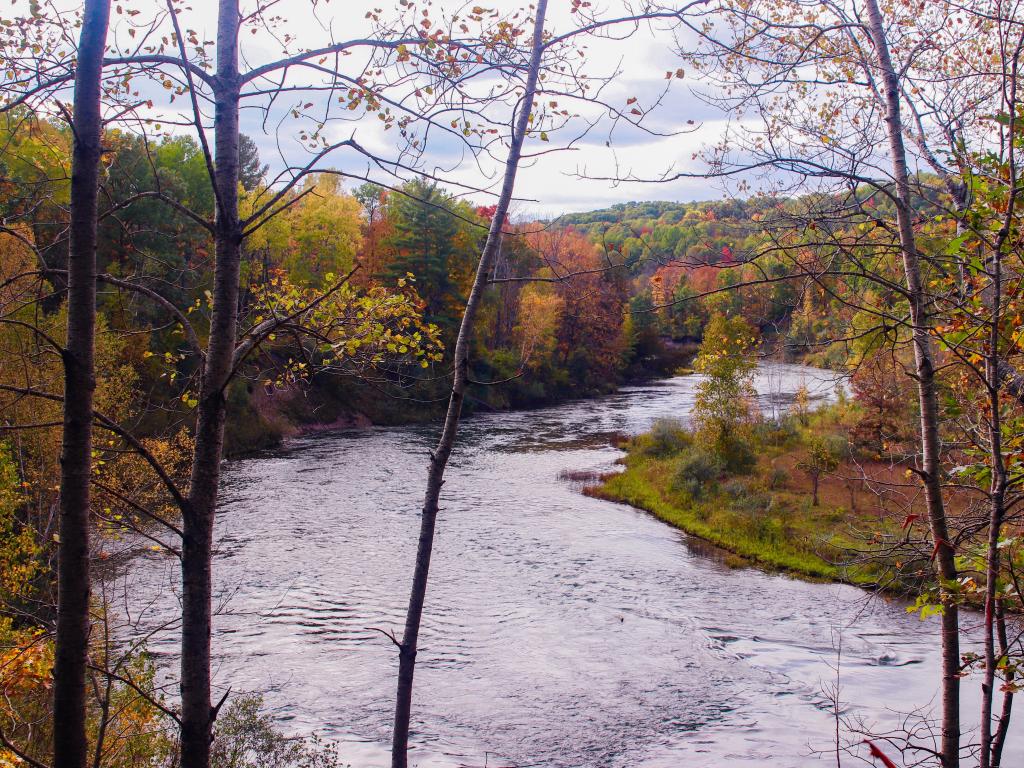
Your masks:
{"label": "thin trunk leaning right, alone in front of mid-river", "polygon": [[476,311],[483,292],[486,289],[487,275],[490,272],[496,254],[501,247],[502,228],[508,215],[512,193],[515,188],[516,171],[519,169],[519,158],[522,155],[522,144],[529,127],[529,114],[532,110],[534,96],[537,93],[537,82],[541,70],[541,57],[544,53],[544,17],[547,11],[547,0],[539,0],[534,22],[532,51],[529,59],[529,71],[526,76],[526,87],[519,112],[515,117],[512,136],[509,142],[509,155],[505,162],[505,178],[502,182],[498,206],[487,239],[476,266],[473,287],[470,290],[466,309],[459,326],[459,336],[455,345],[455,374],[452,383],[452,395],[449,399],[447,414],[441,429],[437,446],[430,456],[430,466],[427,473],[427,489],[423,500],[423,510],[420,519],[420,539],[416,550],[416,566],[413,572],[413,588],[409,598],[409,611],[406,614],[406,629],[401,643],[398,645],[398,689],[394,707],[394,730],[391,740],[392,768],[407,768],[409,763],[409,726],[413,705],[413,675],[416,671],[416,653],[420,636],[420,622],[423,617],[423,605],[427,596],[427,577],[430,571],[430,555],[434,543],[434,526],[437,520],[438,500],[441,485],[444,483],[444,469],[449,457],[455,446],[456,434],[459,430],[459,418],[462,415],[462,403],[469,384],[469,344],[473,335]]}

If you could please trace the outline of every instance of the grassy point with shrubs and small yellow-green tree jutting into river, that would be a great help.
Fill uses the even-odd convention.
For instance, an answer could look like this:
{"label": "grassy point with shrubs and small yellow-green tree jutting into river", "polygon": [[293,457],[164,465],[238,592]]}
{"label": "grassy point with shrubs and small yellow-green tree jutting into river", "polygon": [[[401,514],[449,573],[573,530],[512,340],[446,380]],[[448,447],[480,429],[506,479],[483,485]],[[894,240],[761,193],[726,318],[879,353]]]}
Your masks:
{"label": "grassy point with shrubs and small yellow-green tree jutting into river", "polygon": [[[624,471],[585,493],[646,510],[734,564],[921,594],[927,558],[901,546],[924,515],[905,494],[915,417],[905,389],[872,357],[851,377],[853,397],[840,385],[836,401],[811,408],[802,387],[769,418],[753,386],[759,341],[741,317],[714,315],[694,362],[703,379],[690,425],[655,422],[624,444]],[[950,506],[962,512],[964,500]],[[970,588],[963,596],[977,604]],[[935,610],[921,599],[912,609]]]}

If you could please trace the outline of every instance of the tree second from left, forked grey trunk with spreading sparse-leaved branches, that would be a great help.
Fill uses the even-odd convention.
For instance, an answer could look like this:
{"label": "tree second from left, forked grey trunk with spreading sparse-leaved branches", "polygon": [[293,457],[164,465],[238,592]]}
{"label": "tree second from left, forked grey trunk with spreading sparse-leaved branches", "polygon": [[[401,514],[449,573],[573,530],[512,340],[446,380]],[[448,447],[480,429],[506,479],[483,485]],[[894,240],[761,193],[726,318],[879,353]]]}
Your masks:
{"label": "tree second from left, forked grey trunk with spreading sparse-leaved branches", "polygon": [[[119,14],[124,10],[122,6],[118,9]],[[181,764],[188,768],[205,768],[209,765],[212,724],[219,708],[212,699],[210,670],[211,559],[227,415],[225,392],[253,350],[275,331],[295,327],[301,319],[315,316],[315,308],[336,295],[345,283],[344,275],[335,275],[334,285],[326,286],[319,297],[302,305],[282,302],[274,305],[268,316],[264,315],[251,327],[240,329],[244,242],[299,199],[301,191],[297,195],[296,188],[307,176],[322,170],[329,156],[347,151],[368,161],[374,168],[385,168],[385,174],[412,175],[418,158],[422,157],[423,133],[428,126],[457,136],[466,144],[477,140],[483,143],[486,139],[483,130],[473,123],[467,123],[460,130],[437,124],[440,112],[454,110],[458,113],[467,106],[460,89],[470,71],[478,62],[482,63],[475,38],[469,34],[468,27],[466,37],[460,40],[446,36],[440,28],[428,33],[431,22],[419,10],[407,9],[407,16],[391,26],[378,15],[371,14],[368,19],[370,35],[367,37],[342,42],[332,37],[321,47],[302,48],[297,53],[286,51],[282,57],[270,60],[263,56],[262,62],[249,67],[241,63],[242,33],[255,31],[260,34],[262,31],[271,39],[287,40],[290,39],[288,35],[273,37],[274,28],[285,24],[284,19],[264,14],[262,7],[243,15],[237,0],[221,0],[218,3],[216,39],[206,41],[187,28],[186,10],[174,0],[169,0],[166,11],[157,10],[148,16],[128,8],[123,15],[130,33],[113,39],[102,63],[113,114],[124,123],[135,130],[153,126],[158,131],[162,124],[167,124],[178,129],[190,129],[196,136],[200,148],[198,157],[202,161],[210,193],[209,210],[197,210],[190,201],[168,194],[164,186],[166,179],[160,174],[154,174],[155,183],[152,186],[135,190],[130,200],[116,202],[113,208],[121,210],[141,200],[159,201],[175,215],[187,218],[209,238],[212,245],[212,281],[207,289],[208,304],[204,306],[203,302],[200,303],[204,309],[204,316],[199,318],[202,321],[202,333],[196,328],[200,324],[194,324],[186,311],[193,307],[176,303],[161,290],[141,281],[117,275],[104,274],[99,279],[118,291],[159,306],[180,333],[181,349],[168,352],[170,357],[167,359],[177,364],[187,357],[194,366],[187,372],[181,393],[181,401],[188,406],[186,421],[191,422],[190,431],[194,434],[187,481],[179,482],[172,477],[159,458],[130,430],[114,420],[100,418],[99,421],[103,429],[113,431],[124,441],[127,450],[138,453],[146,461],[166,486],[181,515],[180,528],[176,523],[169,523],[170,531],[180,536],[181,540],[180,547],[176,548],[181,559],[183,587]],[[473,23],[482,30],[483,16],[471,15],[475,16]],[[13,26],[6,63],[9,69],[24,73],[25,77],[13,83],[6,94],[9,109],[35,105],[46,110],[48,104],[54,103],[48,101],[48,97],[59,93],[75,77],[77,51],[72,49],[73,46],[58,44],[52,57],[37,58],[35,49],[30,50],[32,46],[16,39],[23,32],[29,32],[32,39],[61,40],[62,25],[66,23],[70,23],[70,18],[57,15],[47,20],[34,12],[32,18]],[[88,26],[87,29],[93,30],[94,27]],[[505,31],[503,34],[507,34],[507,28],[502,29]],[[47,38],[51,33],[52,37]],[[154,39],[162,42],[152,46],[151,40]],[[438,47],[445,48],[452,55],[434,56]],[[342,66],[342,57],[353,52],[369,56],[352,65],[358,73],[354,76],[346,73]],[[325,67],[328,59],[331,59],[332,66]],[[502,66],[497,63],[497,71]],[[310,85],[307,80],[297,78],[299,69],[303,70],[303,75],[306,70],[318,73],[323,82]],[[367,72],[376,72],[378,79],[375,81],[366,76]],[[409,86],[412,81],[416,85]],[[135,94],[139,87],[137,84],[142,82],[147,82],[150,87],[156,86],[156,92],[165,92],[168,101],[159,105],[153,104],[151,99],[140,102]],[[389,95],[389,88],[400,90],[402,97],[409,98],[399,102],[397,96],[392,98]],[[243,180],[240,169],[243,154],[241,110],[243,105],[251,105],[269,113],[278,103],[278,93],[289,93],[292,97],[303,91],[318,94],[315,102],[326,105],[328,110],[327,115],[313,116],[309,110],[314,102],[301,100],[294,108],[286,109],[286,115],[297,121],[295,135],[307,152],[307,157],[298,165],[286,160],[283,164],[285,169],[275,183],[256,190],[251,207],[243,215],[240,207],[240,182]],[[170,109],[169,114],[161,112],[173,99],[184,101],[184,113],[177,111],[176,105]],[[434,104],[442,105],[437,106],[435,112]],[[472,104],[473,108],[478,105],[479,102]],[[352,138],[338,141],[326,138],[324,129],[327,124],[358,120],[367,114],[375,118],[379,116],[387,129],[394,130],[399,160],[382,159]],[[330,338],[322,340],[328,346],[331,342]],[[393,344],[396,349],[399,347],[397,342]],[[411,345],[406,346],[412,348]],[[87,584],[87,580],[82,584]],[[78,658],[83,657],[84,652],[80,644],[74,648]],[[56,730],[72,734],[77,731],[77,727],[71,731],[62,730],[62,726],[63,721],[57,723]]]}

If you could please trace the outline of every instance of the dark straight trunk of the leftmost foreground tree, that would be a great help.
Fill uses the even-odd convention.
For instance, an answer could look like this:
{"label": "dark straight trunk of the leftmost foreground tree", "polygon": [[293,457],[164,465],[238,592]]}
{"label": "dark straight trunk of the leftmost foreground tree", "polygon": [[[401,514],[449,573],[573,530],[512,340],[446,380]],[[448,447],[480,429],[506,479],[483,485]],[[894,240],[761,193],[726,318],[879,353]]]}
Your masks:
{"label": "dark straight trunk of the leftmost foreground tree", "polygon": [[96,228],[103,133],[101,78],[110,11],[110,0],[86,0],[75,78],[53,668],[53,768],[84,768],[87,759],[85,672],[89,655],[92,396],[96,386]]}

